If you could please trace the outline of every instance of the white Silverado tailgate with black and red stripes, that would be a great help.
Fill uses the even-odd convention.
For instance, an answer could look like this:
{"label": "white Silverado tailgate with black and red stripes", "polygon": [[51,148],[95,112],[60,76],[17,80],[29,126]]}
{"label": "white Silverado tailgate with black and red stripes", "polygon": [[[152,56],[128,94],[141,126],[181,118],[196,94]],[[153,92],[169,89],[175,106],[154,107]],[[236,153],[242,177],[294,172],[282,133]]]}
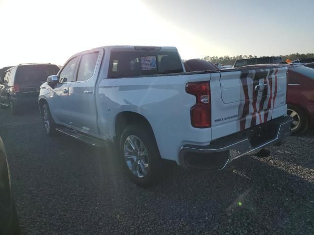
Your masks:
{"label": "white Silverado tailgate with black and red stripes", "polygon": [[241,68],[211,74],[212,139],[287,113],[287,68]]}

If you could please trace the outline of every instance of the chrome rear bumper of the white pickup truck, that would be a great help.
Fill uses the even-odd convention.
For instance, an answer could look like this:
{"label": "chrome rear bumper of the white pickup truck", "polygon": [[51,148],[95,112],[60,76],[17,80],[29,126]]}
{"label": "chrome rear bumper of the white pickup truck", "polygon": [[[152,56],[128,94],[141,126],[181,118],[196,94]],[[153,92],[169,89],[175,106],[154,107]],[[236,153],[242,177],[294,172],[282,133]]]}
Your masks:
{"label": "chrome rear bumper of the white pickup truck", "polygon": [[280,145],[290,136],[293,119],[289,116],[273,119],[215,141],[208,146],[183,145],[179,153],[184,168],[223,170],[250,152]]}

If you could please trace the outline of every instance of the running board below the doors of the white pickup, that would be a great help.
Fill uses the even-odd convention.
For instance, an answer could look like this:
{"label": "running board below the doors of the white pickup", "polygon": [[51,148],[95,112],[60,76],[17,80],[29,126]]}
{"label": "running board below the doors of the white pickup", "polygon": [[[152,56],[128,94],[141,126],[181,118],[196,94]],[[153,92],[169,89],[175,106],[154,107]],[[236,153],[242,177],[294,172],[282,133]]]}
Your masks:
{"label": "running board below the doors of the white pickup", "polygon": [[58,132],[61,132],[62,134],[65,134],[67,136],[71,136],[79,141],[83,141],[85,143],[91,144],[93,146],[97,147],[104,147],[104,141],[95,137],[92,137],[90,135],[81,133],[77,130],[69,129],[66,127],[57,127],[55,128]]}

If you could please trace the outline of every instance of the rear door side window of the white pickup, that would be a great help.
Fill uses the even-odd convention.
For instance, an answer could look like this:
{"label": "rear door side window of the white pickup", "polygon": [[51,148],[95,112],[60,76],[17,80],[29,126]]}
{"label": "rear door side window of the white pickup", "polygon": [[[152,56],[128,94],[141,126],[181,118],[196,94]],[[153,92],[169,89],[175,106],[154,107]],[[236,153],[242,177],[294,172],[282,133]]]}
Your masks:
{"label": "rear door side window of the white pickup", "polygon": [[86,81],[94,74],[99,52],[90,53],[82,56],[79,63],[77,81]]}

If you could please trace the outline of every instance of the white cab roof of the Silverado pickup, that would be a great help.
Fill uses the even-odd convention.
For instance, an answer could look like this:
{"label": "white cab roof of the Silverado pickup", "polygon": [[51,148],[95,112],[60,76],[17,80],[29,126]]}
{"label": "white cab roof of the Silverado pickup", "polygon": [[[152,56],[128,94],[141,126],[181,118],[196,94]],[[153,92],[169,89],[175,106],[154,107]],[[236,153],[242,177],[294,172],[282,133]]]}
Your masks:
{"label": "white cab roof of the Silverado pickup", "polygon": [[[129,45],[124,45],[124,46],[103,46],[103,47],[95,47],[89,50],[84,50],[84,51],[80,51],[73,56],[77,56],[83,53],[87,53],[93,50],[97,50],[97,49],[105,49],[105,50],[109,50],[109,51],[136,51],[135,47],[158,47],[158,46],[129,46]],[[175,51],[177,52],[178,49],[177,47],[160,47],[161,49],[159,51]]]}

